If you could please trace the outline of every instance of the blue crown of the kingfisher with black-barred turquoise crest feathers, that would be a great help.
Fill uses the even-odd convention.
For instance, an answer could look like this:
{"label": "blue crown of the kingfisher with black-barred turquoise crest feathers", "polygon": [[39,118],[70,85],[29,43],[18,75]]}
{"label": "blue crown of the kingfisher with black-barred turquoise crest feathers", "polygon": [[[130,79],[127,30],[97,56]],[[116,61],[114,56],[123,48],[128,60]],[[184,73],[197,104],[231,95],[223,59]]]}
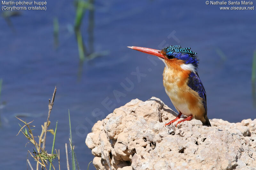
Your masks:
{"label": "blue crown of the kingfisher with black-barred turquoise crest feathers", "polygon": [[162,54],[166,55],[168,59],[177,58],[184,60],[185,64],[193,64],[198,67],[199,60],[196,53],[191,51],[190,48],[182,48],[181,46],[168,46],[162,49]]}

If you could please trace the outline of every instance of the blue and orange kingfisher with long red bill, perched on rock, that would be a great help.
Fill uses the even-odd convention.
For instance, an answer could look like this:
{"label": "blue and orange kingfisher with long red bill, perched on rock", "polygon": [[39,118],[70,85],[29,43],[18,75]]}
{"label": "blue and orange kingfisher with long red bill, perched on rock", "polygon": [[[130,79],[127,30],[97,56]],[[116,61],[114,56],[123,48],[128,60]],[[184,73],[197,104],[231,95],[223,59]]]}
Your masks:
{"label": "blue and orange kingfisher with long red bill, perched on rock", "polygon": [[162,50],[144,47],[128,48],[155,55],[165,64],[164,89],[179,115],[164,126],[176,122],[182,114],[186,118],[178,121],[176,127],[179,123],[192,118],[200,120],[205,126],[211,126],[207,117],[206,92],[197,73],[199,64],[197,53],[191,51],[191,48],[182,48],[179,45],[171,45]]}

